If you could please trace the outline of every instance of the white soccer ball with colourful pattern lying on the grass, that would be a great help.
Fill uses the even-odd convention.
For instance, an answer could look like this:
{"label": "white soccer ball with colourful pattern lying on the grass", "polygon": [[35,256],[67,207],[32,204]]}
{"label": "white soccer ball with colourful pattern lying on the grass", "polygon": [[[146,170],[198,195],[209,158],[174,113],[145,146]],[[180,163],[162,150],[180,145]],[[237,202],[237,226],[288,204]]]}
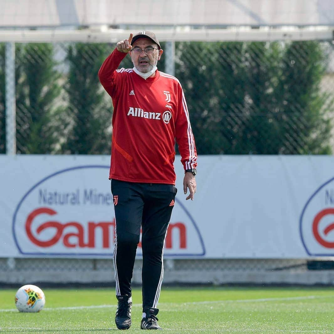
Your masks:
{"label": "white soccer ball with colourful pattern lying on the grass", "polygon": [[20,312],[39,312],[44,304],[44,292],[35,285],[24,285],[16,292],[15,305]]}

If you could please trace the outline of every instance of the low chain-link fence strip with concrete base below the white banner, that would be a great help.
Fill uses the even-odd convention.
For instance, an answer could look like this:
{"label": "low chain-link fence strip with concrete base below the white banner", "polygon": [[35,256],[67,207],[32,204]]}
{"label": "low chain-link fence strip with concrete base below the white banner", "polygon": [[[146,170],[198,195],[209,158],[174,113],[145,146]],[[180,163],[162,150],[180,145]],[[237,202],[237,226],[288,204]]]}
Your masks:
{"label": "low chain-link fence strip with concrete base below the white banner", "polygon": [[[334,285],[333,261],[304,259],[164,260],[164,284]],[[141,284],[142,260],[136,260],[132,284]],[[112,260],[0,259],[0,283],[115,286]]]}

